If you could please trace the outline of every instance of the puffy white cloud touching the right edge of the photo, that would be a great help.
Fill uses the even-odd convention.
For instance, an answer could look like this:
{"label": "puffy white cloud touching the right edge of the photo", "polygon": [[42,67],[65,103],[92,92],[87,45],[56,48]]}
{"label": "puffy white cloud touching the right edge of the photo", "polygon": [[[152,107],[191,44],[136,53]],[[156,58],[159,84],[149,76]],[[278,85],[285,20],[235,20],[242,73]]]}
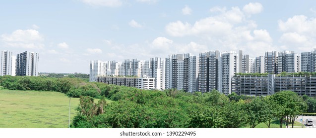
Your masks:
{"label": "puffy white cloud touching the right edge of the photo", "polygon": [[278,27],[283,33],[279,39],[290,49],[310,51],[316,45],[316,19],[305,15],[295,15],[286,21],[279,20]]}

